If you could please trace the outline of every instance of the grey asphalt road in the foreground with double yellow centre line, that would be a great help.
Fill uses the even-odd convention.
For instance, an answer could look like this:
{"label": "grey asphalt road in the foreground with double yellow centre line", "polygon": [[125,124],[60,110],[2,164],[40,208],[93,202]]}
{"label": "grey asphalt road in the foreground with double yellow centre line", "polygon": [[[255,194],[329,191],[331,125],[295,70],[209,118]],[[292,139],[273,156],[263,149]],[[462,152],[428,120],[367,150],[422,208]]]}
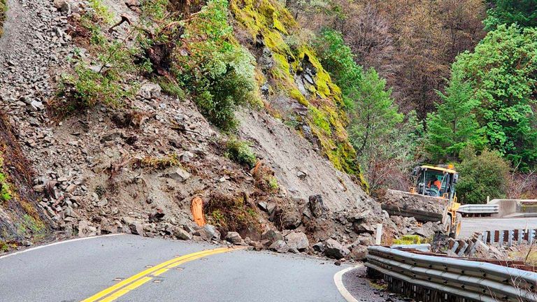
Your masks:
{"label": "grey asphalt road in the foreground with double yellow centre line", "polygon": [[345,299],[334,274],[345,267],[206,243],[100,236],[0,257],[0,301],[336,302]]}

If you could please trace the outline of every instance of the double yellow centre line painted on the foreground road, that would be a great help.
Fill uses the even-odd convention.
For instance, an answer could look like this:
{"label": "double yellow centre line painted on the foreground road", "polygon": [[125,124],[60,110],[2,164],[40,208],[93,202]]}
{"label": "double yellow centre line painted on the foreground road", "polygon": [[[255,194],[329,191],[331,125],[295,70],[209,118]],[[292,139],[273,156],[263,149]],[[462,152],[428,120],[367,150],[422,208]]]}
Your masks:
{"label": "double yellow centre line painted on the foreground road", "polygon": [[140,273],[137,273],[136,275],[133,275],[123,280],[122,282],[117,283],[116,285],[108,287],[107,289],[104,289],[103,291],[98,292],[94,294],[93,296],[90,296],[90,298],[84,299],[82,302],[114,301],[120,296],[127,294],[132,289],[136,289],[136,287],[140,287],[146,282],[152,280],[153,277],[162,275],[162,273],[165,273],[171,268],[180,266],[181,264],[184,264],[185,262],[188,262],[188,261],[192,261],[194,259],[199,259],[201,257],[210,256],[212,254],[220,254],[224,252],[229,252],[231,250],[236,250],[236,249],[230,248],[230,247],[221,247],[215,250],[204,250],[201,252],[194,252],[192,254],[186,254],[184,256],[180,256],[180,257],[171,259],[169,261],[162,262],[162,264],[158,264],[157,266],[148,268],[145,271],[141,271]]}

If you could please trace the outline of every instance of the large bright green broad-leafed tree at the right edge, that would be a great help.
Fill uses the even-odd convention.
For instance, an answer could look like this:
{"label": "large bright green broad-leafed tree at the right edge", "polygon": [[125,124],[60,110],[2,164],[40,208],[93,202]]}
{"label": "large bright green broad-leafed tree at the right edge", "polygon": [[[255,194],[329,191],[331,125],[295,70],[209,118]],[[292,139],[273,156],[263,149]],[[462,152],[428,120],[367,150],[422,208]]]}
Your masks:
{"label": "large bright green broad-leafed tree at the right edge", "polygon": [[460,70],[479,102],[475,113],[489,149],[529,168],[537,163],[537,29],[516,25],[490,31],[452,66]]}

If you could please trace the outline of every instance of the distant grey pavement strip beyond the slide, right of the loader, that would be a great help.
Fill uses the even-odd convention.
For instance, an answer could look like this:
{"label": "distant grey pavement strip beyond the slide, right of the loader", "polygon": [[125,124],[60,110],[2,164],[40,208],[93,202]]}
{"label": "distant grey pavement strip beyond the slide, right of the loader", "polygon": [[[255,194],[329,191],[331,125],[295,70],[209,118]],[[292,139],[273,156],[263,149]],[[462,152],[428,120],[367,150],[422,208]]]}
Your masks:
{"label": "distant grey pavement strip beyond the slide, right of the loader", "polygon": [[475,232],[509,229],[537,229],[537,217],[528,218],[475,218],[462,220],[461,238],[471,237]]}

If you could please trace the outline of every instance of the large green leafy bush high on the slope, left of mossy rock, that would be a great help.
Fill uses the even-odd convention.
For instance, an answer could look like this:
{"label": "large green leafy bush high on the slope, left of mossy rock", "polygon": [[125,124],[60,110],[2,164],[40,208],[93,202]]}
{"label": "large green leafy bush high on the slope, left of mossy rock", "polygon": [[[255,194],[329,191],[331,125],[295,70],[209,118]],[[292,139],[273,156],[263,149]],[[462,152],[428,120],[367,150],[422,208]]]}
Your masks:
{"label": "large green leafy bush high on the slope, left of mossy rock", "polygon": [[237,106],[257,100],[255,59],[235,41],[227,7],[226,0],[211,0],[201,8],[196,22],[185,25],[182,42],[189,55],[177,55],[174,62],[178,82],[194,95],[201,113],[224,131],[236,129]]}

